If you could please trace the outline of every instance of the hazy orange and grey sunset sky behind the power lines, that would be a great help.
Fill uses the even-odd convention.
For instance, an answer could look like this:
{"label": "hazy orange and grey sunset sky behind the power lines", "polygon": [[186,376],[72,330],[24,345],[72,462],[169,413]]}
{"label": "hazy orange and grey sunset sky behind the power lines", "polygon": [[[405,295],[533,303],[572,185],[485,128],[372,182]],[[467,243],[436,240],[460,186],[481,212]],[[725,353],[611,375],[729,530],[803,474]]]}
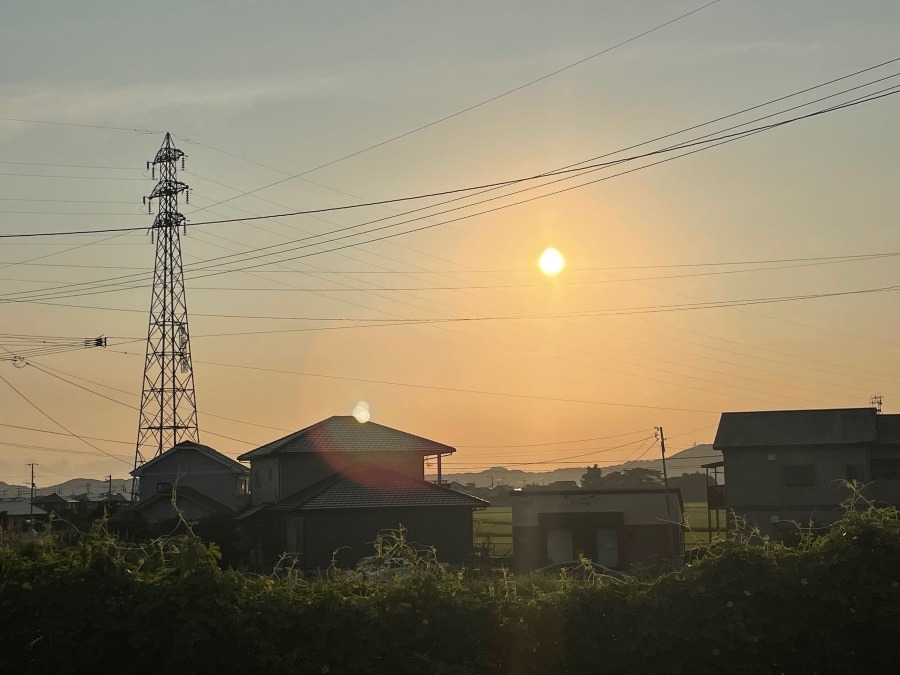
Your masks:
{"label": "hazy orange and grey sunset sky behind the power lines", "polygon": [[629,159],[192,225],[200,440],[229,456],[359,401],[456,447],[445,472],[656,458],[655,427],[673,453],[723,411],[892,412],[900,96],[635,156],[895,91],[898,35],[893,0],[7,7],[0,234],[136,229],[0,240],[0,481],[133,467],[166,131],[192,223]]}

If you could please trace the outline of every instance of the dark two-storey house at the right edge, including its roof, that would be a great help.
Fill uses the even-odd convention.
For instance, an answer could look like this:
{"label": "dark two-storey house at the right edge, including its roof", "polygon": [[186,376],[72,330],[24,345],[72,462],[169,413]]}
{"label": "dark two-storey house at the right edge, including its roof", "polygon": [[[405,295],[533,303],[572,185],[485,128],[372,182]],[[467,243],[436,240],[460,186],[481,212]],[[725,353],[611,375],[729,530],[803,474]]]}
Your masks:
{"label": "dark two-storey house at the right edge, including its roof", "polygon": [[722,413],[716,439],[725,506],[760,532],[827,525],[858,481],[876,502],[900,504],[900,415],[875,408]]}

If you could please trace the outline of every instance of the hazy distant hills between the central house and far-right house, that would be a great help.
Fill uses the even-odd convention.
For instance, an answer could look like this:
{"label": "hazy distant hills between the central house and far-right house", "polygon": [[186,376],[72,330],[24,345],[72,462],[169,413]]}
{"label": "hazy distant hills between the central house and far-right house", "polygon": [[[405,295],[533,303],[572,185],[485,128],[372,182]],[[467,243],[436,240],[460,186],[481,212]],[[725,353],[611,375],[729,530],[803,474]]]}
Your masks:
{"label": "hazy distant hills between the central house and far-right house", "polygon": [[[695,445],[687,450],[668,455],[666,457],[666,469],[670,477],[681,476],[685,473],[703,471],[701,464],[716,462],[722,459],[722,453],[713,450],[712,445]],[[587,466],[587,463],[586,465]],[[656,469],[662,471],[662,459],[642,460],[639,462],[623,462],[613,466],[604,466],[603,473],[610,474],[622,469]],[[549,485],[554,481],[574,480],[581,484],[581,476],[585,467],[571,467],[555,469],[553,471],[521,471],[519,469],[507,469],[503,466],[495,466],[477,473],[445,473],[444,480],[455,480],[459,483],[474,483],[477,487],[491,487],[494,485],[510,485],[522,487],[526,484]],[[427,480],[435,480],[436,475],[426,476]],[[721,481],[721,476],[720,480]]]}

